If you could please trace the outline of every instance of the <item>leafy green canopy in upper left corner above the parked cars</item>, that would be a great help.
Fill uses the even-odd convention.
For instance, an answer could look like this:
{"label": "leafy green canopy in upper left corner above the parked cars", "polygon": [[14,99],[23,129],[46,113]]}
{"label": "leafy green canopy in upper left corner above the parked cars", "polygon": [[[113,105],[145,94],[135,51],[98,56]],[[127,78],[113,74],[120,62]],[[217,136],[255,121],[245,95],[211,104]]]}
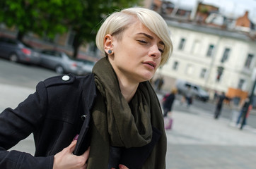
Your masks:
{"label": "leafy green canopy in upper left corner above the parked cars", "polygon": [[16,38],[21,41],[27,32],[53,39],[57,33],[66,32],[69,20],[82,11],[79,1],[73,0],[8,0],[1,1],[0,9],[0,22],[16,26]]}

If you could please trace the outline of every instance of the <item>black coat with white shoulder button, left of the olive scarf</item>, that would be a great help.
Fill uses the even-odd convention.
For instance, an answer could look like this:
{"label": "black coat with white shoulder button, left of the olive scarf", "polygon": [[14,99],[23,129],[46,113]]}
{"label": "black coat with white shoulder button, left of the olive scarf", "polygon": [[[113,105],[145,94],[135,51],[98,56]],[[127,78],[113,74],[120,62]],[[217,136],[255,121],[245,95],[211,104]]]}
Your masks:
{"label": "black coat with white shoulder button, left of the olive scarf", "polygon": [[[6,108],[0,114],[1,169],[52,169],[54,154],[69,146],[80,130],[83,133],[88,129],[88,112],[96,96],[93,75],[68,75],[63,80],[62,77],[39,82],[36,92],[17,108]],[[6,151],[32,132],[35,157],[19,151]],[[76,146],[83,147],[81,139],[78,137]]]}

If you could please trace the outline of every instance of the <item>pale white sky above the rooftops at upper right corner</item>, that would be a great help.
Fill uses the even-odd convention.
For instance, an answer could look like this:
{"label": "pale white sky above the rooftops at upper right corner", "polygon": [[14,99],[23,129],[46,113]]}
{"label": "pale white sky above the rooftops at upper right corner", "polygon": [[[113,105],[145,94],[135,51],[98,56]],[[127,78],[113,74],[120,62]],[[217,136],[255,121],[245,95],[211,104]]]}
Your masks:
{"label": "pale white sky above the rooftops at upper right corner", "polygon": [[[197,0],[170,0],[180,6],[191,7]],[[219,7],[219,11],[228,16],[242,16],[245,11],[249,11],[250,20],[256,23],[256,0],[202,0],[205,4]]]}

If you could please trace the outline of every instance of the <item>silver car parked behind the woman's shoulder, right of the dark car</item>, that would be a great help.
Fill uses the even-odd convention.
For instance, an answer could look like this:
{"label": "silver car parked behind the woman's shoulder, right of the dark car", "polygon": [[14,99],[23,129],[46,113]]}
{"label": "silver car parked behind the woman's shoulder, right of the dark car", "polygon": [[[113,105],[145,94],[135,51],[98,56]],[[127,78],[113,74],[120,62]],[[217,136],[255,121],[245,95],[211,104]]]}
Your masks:
{"label": "silver car parked behind the woman's shoulder, right of the dark car", "polygon": [[68,54],[56,50],[42,50],[40,65],[55,70],[59,74],[73,73],[75,75],[86,75],[90,73],[93,65],[89,65],[81,59],[71,58]]}

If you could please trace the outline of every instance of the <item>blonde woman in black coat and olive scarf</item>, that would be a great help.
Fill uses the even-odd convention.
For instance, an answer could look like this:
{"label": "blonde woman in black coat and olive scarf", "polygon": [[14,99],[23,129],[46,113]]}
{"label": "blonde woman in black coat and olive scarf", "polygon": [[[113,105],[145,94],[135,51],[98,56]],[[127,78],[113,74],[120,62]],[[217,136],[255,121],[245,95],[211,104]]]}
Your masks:
{"label": "blonde woman in black coat and olive scarf", "polygon": [[[173,49],[165,21],[127,8],[105,20],[96,43],[105,58],[91,75],[39,82],[0,114],[0,168],[165,168],[163,115],[148,81]],[[35,156],[7,151],[31,132]]]}

